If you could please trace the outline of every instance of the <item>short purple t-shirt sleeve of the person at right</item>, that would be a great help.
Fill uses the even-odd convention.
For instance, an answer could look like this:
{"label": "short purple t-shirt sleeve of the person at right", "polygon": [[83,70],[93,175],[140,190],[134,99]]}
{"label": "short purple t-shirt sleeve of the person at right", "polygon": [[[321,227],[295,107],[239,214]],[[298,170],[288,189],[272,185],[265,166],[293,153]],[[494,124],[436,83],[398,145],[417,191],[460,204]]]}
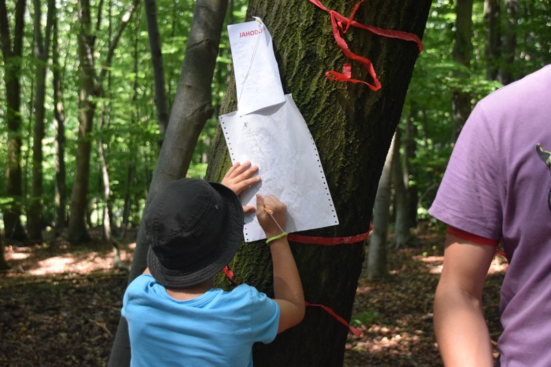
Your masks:
{"label": "short purple t-shirt sleeve of the person at right", "polygon": [[501,238],[505,194],[503,159],[477,105],[457,139],[446,174],[429,209],[431,216],[484,238]]}

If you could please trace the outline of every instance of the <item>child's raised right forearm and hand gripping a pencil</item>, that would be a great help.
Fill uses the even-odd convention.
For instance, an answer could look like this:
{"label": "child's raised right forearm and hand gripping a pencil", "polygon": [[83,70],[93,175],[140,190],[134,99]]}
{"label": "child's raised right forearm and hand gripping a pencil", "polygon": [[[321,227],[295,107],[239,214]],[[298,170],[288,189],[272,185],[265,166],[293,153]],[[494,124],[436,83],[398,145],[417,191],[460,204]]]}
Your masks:
{"label": "child's raised right forearm and hand gripping a pencil", "polygon": [[[272,211],[275,220],[264,211],[264,206]],[[268,239],[282,233],[280,227],[285,228],[286,215],[287,207],[278,198],[256,195],[256,216]],[[304,318],[304,294],[287,237],[271,240],[269,247],[273,261],[273,293],[275,302],[280,306],[278,333],[281,333]]]}

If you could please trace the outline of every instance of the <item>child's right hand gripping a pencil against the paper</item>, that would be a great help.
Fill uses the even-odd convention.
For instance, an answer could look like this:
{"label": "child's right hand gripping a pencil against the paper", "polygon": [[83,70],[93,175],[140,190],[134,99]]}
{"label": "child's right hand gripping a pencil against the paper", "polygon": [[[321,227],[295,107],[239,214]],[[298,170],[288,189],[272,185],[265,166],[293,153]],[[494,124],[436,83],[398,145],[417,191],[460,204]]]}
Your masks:
{"label": "child's right hand gripping a pencil against the paper", "polygon": [[[266,209],[265,211],[264,208]],[[266,211],[271,211],[271,215],[273,216],[273,218],[271,218],[269,213],[267,213]],[[280,202],[280,200],[278,200],[278,198],[273,195],[269,195],[263,198],[260,193],[257,193],[256,217],[258,218],[258,223],[260,224],[260,227],[262,227],[262,229],[264,229],[264,233],[266,233],[266,238],[272,238],[273,236],[280,235],[282,232],[285,231],[287,206]]]}

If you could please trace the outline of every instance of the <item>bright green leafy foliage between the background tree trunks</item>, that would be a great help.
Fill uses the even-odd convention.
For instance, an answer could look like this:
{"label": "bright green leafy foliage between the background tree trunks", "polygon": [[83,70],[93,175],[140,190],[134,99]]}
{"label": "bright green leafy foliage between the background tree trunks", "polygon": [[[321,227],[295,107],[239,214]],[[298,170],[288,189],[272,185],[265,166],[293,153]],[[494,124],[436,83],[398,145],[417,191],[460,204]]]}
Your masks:
{"label": "bright green leafy foliage between the background tree trunks", "polygon": [[[104,2],[101,17],[98,17],[100,1],[92,0],[92,23],[95,32],[94,59],[96,74],[100,74],[102,64],[110,47],[122,15],[128,8],[128,1]],[[245,21],[247,1],[233,1],[233,9],[227,13],[226,23]],[[14,30],[14,3],[8,1],[10,30]],[[157,17],[165,67],[165,80],[169,108],[174,103],[176,87],[180,78],[195,1],[158,0]],[[430,10],[424,32],[424,51],[419,55],[413,78],[410,83],[402,131],[409,120],[414,127],[413,140],[415,156],[410,158],[410,184],[417,187],[419,216],[426,217],[438,184],[446,169],[453,149],[451,141],[453,131],[453,112],[451,107],[452,91],[468,92],[472,96],[472,105],[497,89],[501,84],[486,78],[487,25],[484,20],[483,2],[475,1],[473,6],[472,62],[464,67],[453,61],[453,43],[455,39],[455,1],[435,0]],[[42,4],[42,23],[45,25],[46,4]],[[43,217],[44,222],[54,220],[54,182],[55,182],[55,132],[53,120],[52,70],[61,72],[63,88],[63,109],[65,116],[65,164],[67,171],[67,208],[70,192],[74,184],[76,144],[79,129],[79,69],[77,39],[79,21],[76,18],[77,4],[74,1],[58,0],[56,19],[59,25],[60,54],[59,63],[52,64],[50,59],[45,98],[46,131],[43,141]],[[154,103],[153,70],[147,22],[143,3],[132,17],[129,26],[123,32],[115,51],[106,78],[101,81],[103,98],[96,98],[97,110],[94,116],[94,129],[90,135],[92,157],[90,166],[90,192],[88,200],[93,218],[101,220],[101,210],[106,205],[103,198],[102,171],[98,142],[103,143],[105,159],[110,175],[112,206],[117,224],[121,224],[125,210],[125,200],[131,198],[129,218],[137,224],[141,216],[149,182],[156,165],[159,152],[160,133],[158,129],[156,107]],[[33,54],[34,8],[28,3],[25,14],[23,34],[23,55],[7,65],[0,54],[0,78],[6,81],[13,77],[13,66],[21,69],[21,127],[17,136],[22,139],[21,168],[23,173],[23,198],[20,203],[25,211],[29,200],[32,172],[32,129],[34,125],[34,74],[36,61]],[[508,24],[505,10],[502,9],[501,28]],[[96,21],[101,23],[96,26]],[[551,63],[551,5],[549,1],[519,1],[519,11],[514,24],[517,46],[512,63],[514,78],[537,70]],[[13,34],[12,34],[13,39]],[[51,56],[51,51],[50,51]],[[498,67],[504,60],[499,60]],[[468,76],[457,73],[462,70]],[[222,28],[222,41],[214,79],[212,81],[212,105],[214,116],[205,125],[187,176],[202,178],[209,161],[211,139],[218,125],[218,111],[231,80],[231,54],[227,28]],[[6,85],[0,87],[0,162],[8,161],[8,128],[6,126]],[[99,126],[99,121],[103,125]],[[0,192],[6,191],[6,171],[0,169]],[[8,205],[0,200],[0,207]],[[23,218],[24,219],[24,218]],[[92,223],[95,224],[95,223]]]}

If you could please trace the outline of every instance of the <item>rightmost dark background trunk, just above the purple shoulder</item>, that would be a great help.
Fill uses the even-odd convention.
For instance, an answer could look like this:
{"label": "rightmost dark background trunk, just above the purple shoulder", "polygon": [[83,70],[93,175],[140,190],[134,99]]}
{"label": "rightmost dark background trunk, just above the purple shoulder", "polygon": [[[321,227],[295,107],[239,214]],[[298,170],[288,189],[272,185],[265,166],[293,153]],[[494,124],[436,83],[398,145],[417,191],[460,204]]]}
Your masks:
{"label": "rightmost dark background trunk, just above the purple shoulder", "polygon": [[519,12],[518,0],[505,0],[507,17],[503,32],[503,47],[501,55],[503,62],[499,70],[498,80],[507,85],[514,81],[512,70],[514,69],[514,51],[517,48],[517,21]]}

